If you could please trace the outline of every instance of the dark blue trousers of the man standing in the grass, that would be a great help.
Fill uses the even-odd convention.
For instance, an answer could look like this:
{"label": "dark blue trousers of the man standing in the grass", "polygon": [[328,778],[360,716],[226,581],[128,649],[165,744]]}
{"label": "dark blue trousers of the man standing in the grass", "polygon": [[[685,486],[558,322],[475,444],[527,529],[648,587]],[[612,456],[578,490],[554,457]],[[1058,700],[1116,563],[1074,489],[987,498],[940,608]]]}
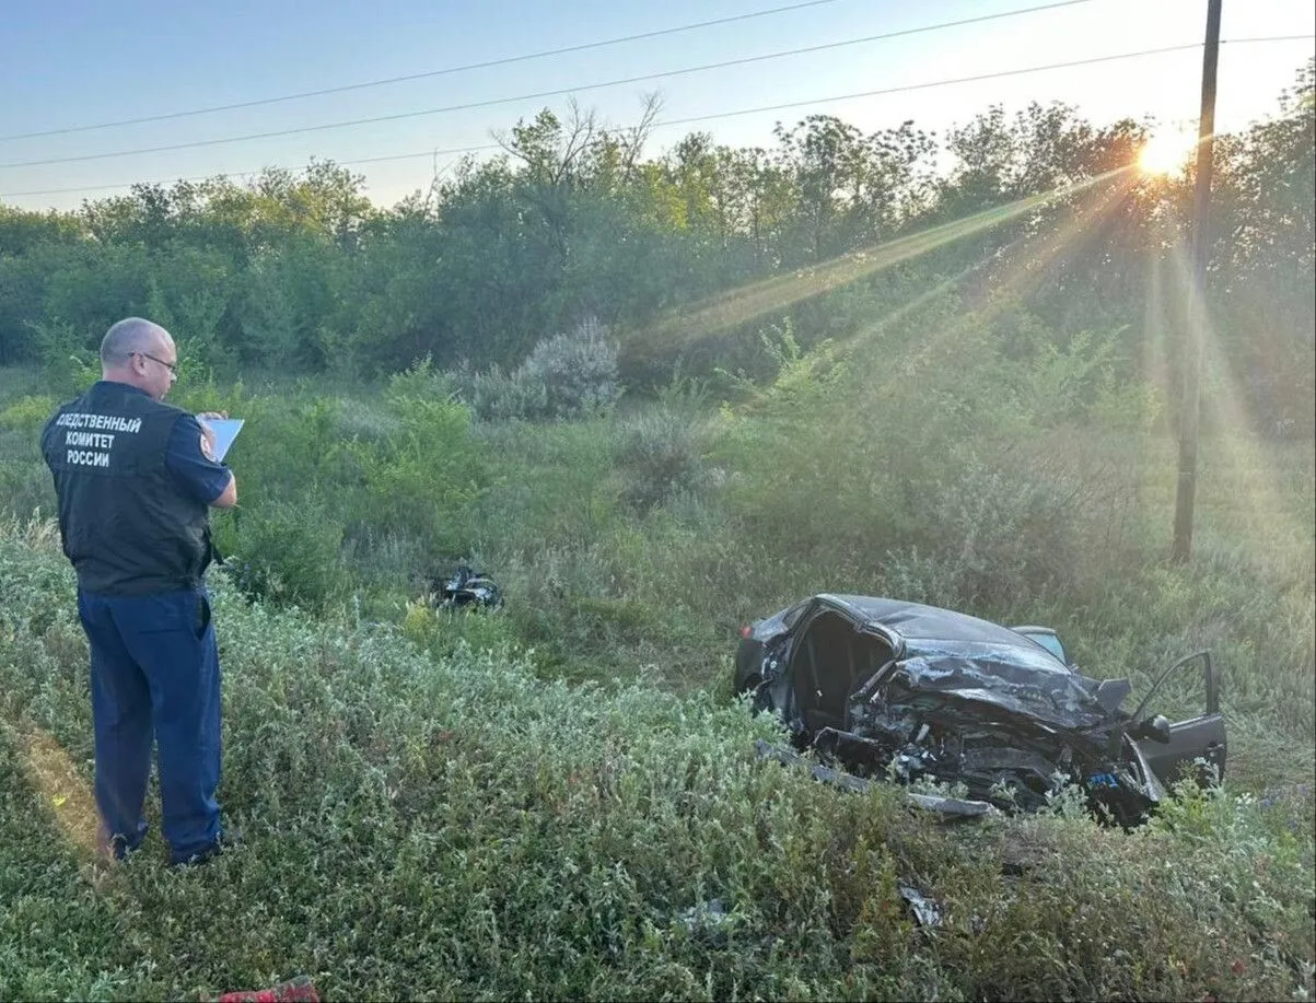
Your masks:
{"label": "dark blue trousers of the man standing in the grass", "polygon": [[91,644],[96,804],[116,852],[146,836],[159,749],[162,829],[174,862],[220,837],[220,658],[204,588],[150,596],[78,592]]}

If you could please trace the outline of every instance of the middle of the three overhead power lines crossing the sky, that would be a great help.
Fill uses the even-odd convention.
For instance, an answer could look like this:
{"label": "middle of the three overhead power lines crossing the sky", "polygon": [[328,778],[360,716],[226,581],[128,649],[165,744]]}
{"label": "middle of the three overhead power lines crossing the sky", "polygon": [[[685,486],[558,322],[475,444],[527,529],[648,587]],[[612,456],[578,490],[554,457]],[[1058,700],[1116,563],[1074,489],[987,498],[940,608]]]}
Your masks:
{"label": "middle of the three overhead power lines crossing the sky", "polygon": [[730,66],[746,66],[749,63],[766,62],[769,59],[782,59],[788,55],[805,55],[809,53],[821,53],[832,49],[842,49],[851,45],[866,45],[869,42],[882,42],[891,38],[901,38],[911,34],[920,34],[925,32],[936,32],[946,28],[958,28],[969,24],[978,24],[982,21],[999,20],[1001,17],[1015,17],[1025,13],[1036,13],[1038,11],[1046,11],[1057,5],[1067,7],[1074,3],[1091,3],[1091,0],[1065,0],[1063,4],[1046,4],[1042,7],[1030,7],[1019,11],[1007,11],[996,14],[984,14],[982,17],[970,17],[959,21],[944,21],[934,25],[923,25],[920,28],[907,28],[900,32],[884,32],[882,34],[863,36],[861,38],[844,38],[837,42],[824,42],[821,45],[803,46],[800,49],[784,49],[776,53],[763,53],[761,55],[746,55],[738,59],[724,59],[716,63],[704,63],[701,66],[688,66],[683,70],[665,70],[655,74],[640,74],[637,76],[625,76],[616,80],[604,80],[601,83],[594,84],[578,84],[572,87],[558,87],[550,91],[534,91],[532,93],[522,93],[515,97],[491,97],[482,101],[467,101],[466,104],[451,104],[442,108],[426,108],[418,112],[396,112],[393,115],[376,115],[368,118],[353,118],[341,122],[325,122],[322,125],[305,125],[293,129],[274,129],[265,133],[247,133],[246,136],[228,136],[220,140],[192,140],[190,142],[182,143],[167,143],[164,146],[145,146],[136,150],[117,150],[113,153],[91,153],[80,154],[78,157],[59,157],[46,161],[20,161],[16,163],[0,163],[0,170],[14,168],[14,167],[45,167],[55,163],[82,163],[86,161],[103,161],[112,159],[114,157],[137,157],[145,153],[168,153],[172,150],[192,150],[200,146],[221,146],[230,142],[249,142],[251,140],[272,140],[282,136],[300,136],[312,132],[324,132],[326,129],[346,129],[355,125],[372,125],[375,122],[391,122],[400,121],[403,118],[418,118],[429,115],[445,115],[449,112],[465,112],[475,108],[491,108],[499,104],[515,104],[517,101],[529,101],[540,97],[561,97],[567,93],[576,93],[579,91],[597,91],[607,87],[620,87],[622,84],[642,83],[645,80],[661,80],[670,76],[684,76],[686,74],[705,72],[708,70],[724,70]]}

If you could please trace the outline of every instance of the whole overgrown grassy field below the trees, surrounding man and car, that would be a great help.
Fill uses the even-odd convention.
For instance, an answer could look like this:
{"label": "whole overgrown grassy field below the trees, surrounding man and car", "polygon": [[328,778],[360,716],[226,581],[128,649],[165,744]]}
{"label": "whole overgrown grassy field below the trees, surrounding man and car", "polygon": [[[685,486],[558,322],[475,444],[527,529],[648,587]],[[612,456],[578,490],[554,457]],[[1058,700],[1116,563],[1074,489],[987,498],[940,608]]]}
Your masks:
{"label": "whole overgrown grassy field below the trees, surrounding man and car", "polygon": [[[92,858],[86,644],[32,519],[50,399],[0,373],[0,998],[297,973],[330,999],[1316,992],[1311,442],[1205,440],[1175,566],[1174,445],[1145,430],[970,436],[899,399],[822,412],[808,386],[471,424],[440,388],[180,395],[250,421],[243,508],[217,519],[245,571],[212,575],[247,842],[172,874],[158,837]],[[421,602],[458,557],[504,613]],[[1211,648],[1228,782],[1134,833],[1063,802],[938,827],[759,763],[736,629],[824,590],[1048,623],[1136,694]]]}

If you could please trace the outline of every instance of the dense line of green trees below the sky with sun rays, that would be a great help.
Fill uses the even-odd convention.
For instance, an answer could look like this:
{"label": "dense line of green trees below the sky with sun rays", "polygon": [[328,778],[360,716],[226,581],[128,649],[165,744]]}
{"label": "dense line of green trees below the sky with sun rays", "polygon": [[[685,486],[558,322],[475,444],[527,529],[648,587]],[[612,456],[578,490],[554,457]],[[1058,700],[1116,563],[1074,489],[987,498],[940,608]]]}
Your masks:
{"label": "dense line of green trees below the sky with sun rays", "polygon": [[[511,367],[596,319],[642,383],[684,357],[744,358],[765,325],[786,321],[808,345],[865,320],[857,301],[894,311],[944,287],[967,304],[1017,296],[1020,351],[1104,332],[1130,375],[1148,375],[1162,345],[1173,384],[1192,176],[1136,170],[1145,122],[994,107],[938,137],[811,115],[778,125],[770,147],[696,132],[646,155],[657,112],[651,99],[634,126],[613,128],[574,105],[541,111],[500,137],[499,155],[392,208],[370,201],[361,175],[315,161],[241,184],[137,184],[72,212],[0,203],[0,365],[87,351],[138,313],[222,374],[359,378],[424,357]],[[1211,345],[1277,430],[1312,421],[1313,124],[1308,63],[1275,115],[1215,147]],[[891,267],[809,286],[838,261],[904,246]],[[801,292],[663,342],[682,317],[699,326],[700,304],[772,279]]]}

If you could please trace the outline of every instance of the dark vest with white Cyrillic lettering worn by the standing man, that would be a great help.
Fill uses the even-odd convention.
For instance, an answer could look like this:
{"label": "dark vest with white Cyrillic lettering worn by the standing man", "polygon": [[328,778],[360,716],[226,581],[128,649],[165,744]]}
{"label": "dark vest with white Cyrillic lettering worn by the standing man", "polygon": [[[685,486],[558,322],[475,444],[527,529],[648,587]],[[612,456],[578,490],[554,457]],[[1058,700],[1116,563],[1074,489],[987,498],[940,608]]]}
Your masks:
{"label": "dark vest with white Cyrillic lettering worn by the standing man", "polygon": [[196,588],[211,562],[209,507],[164,465],[187,412],[101,380],[46,423],[41,451],[78,584],[101,595]]}

